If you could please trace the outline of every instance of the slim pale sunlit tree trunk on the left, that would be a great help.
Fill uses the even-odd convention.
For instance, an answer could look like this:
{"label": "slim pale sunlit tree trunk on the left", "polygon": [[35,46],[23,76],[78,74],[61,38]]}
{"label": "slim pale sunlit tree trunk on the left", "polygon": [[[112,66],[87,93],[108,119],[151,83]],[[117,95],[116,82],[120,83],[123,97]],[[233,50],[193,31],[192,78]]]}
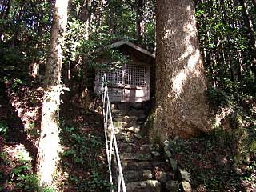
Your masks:
{"label": "slim pale sunlit tree trunk on the left", "polygon": [[59,103],[62,70],[62,43],[66,29],[68,0],[56,0],[50,36],[50,55],[46,63],[45,94],[42,103],[41,135],[38,146],[38,178],[50,186],[58,165]]}

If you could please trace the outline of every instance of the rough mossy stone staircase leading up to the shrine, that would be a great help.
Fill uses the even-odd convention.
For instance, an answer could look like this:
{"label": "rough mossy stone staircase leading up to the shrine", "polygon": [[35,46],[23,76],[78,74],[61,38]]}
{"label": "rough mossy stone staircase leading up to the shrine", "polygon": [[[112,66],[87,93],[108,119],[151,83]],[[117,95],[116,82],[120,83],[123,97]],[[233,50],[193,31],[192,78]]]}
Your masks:
{"label": "rough mossy stone staircase leading up to the shrine", "polygon": [[112,114],[127,192],[179,191],[160,146],[139,134],[146,109],[119,104]]}

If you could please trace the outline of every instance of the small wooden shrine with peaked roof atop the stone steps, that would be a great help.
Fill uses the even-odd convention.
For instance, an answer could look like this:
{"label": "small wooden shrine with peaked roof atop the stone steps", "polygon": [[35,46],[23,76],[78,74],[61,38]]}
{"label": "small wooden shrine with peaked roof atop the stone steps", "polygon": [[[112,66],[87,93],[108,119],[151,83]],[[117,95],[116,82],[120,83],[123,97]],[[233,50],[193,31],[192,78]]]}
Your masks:
{"label": "small wooden shrine with peaked roof atop the stone steps", "polygon": [[[150,100],[150,80],[154,77],[155,56],[132,42],[119,41],[110,45],[129,56],[130,62],[106,72],[111,102],[145,102]],[[103,71],[96,73],[94,92],[101,94]],[[151,79],[150,79],[151,78]],[[153,81],[152,81],[153,82]]]}

